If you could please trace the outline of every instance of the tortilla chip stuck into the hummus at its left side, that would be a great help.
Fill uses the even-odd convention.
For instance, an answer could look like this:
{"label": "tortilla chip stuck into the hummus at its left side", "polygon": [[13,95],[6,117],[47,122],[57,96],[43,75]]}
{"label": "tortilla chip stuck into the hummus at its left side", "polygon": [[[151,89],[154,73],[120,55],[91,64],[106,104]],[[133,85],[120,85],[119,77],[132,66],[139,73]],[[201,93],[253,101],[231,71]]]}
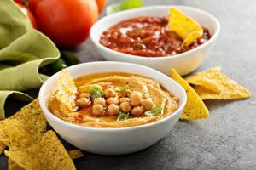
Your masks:
{"label": "tortilla chip stuck into the hummus at its left side", "polygon": [[67,70],[62,70],[54,94],[55,98],[71,112],[76,107],[75,99],[77,94],[78,89],[73,81],[73,77],[69,75]]}

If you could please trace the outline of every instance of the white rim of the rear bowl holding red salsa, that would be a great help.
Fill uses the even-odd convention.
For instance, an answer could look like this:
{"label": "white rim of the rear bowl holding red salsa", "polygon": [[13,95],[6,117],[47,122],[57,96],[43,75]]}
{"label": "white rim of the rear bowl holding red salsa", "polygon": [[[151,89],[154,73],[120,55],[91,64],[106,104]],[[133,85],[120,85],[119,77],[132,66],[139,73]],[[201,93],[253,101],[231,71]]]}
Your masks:
{"label": "white rim of the rear bowl holding red salsa", "polygon": [[[103,46],[98,40],[96,40],[96,38],[93,36],[93,35],[95,35],[94,32],[97,32],[96,31],[97,25],[99,25],[102,22],[106,22],[106,20],[109,20],[109,18],[111,19],[114,16],[118,16],[118,15],[122,16],[122,15],[125,15],[125,14],[129,15],[131,13],[137,13],[139,11],[147,11],[147,10],[154,9],[154,8],[156,10],[161,10],[162,8],[171,8],[171,7],[181,8],[181,10],[183,10],[182,8],[189,8],[191,10],[194,10],[194,11],[198,12],[198,13],[207,15],[209,18],[211,18],[213,20],[213,22],[216,24],[216,31],[214,31],[210,40],[208,40],[207,42],[201,44],[200,46],[198,46],[196,48],[189,49],[188,51],[185,51],[181,54],[159,56],[159,57],[145,57],[145,56],[140,56],[140,55],[125,54],[125,53],[121,53],[119,51],[115,51],[113,49],[107,48],[107,47]],[[137,59],[137,60],[148,59],[148,60],[154,61],[154,60],[166,60],[166,59],[177,59],[177,58],[182,58],[182,57],[189,57],[189,54],[193,54],[197,51],[200,51],[201,48],[205,48],[210,43],[214,42],[217,39],[219,32],[220,32],[220,23],[219,23],[218,19],[215,16],[213,16],[212,14],[205,11],[205,10],[202,10],[200,8],[190,7],[190,6],[184,6],[184,5],[154,5],[154,6],[147,6],[147,7],[142,7],[142,8],[134,8],[134,9],[129,9],[129,10],[125,10],[125,11],[120,11],[118,13],[110,14],[110,15],[102,17],[102,19],[97,20],[96,23],[90,28],[90,40],[96,45],[96,47],[102,48],[103,50],[107,51],[108,53],[122,55],[126,59]]]}

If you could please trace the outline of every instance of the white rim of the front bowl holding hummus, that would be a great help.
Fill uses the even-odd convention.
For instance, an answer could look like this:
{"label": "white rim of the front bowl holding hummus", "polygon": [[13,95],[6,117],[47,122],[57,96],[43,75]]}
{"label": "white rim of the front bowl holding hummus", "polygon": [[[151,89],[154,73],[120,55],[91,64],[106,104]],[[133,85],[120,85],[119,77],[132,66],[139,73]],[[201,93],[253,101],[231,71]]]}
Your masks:
{"label": "white rim of the front bowl holding hummus", "polygon": [[177,83],[175,80],[172,79],[172,77],[167,77],[165,74],[161,73],[160,71],[156,71],[148,66],[144,66],[144,65],[138,65],[138,64],[133,64],[133,63],[125,63],[125,62],[118,62],[118,61],[95,61],[95,62],[89,62],[89,63],[81,63],[78,65],[73,65],[73,66],[69,66],[67,67],[67,71],[73,70],[76,67],[83,67],[83,66],[88,66],[88,65],[94,65],[94,64],[104,64],[104,65],[108,65],[108,64],[121,64],[121,65],[135,65],[140,67],[141,69],[148,69],[148,71],[154,71],[157,74],[161,74],[162,77],[166,77],[166,78],[170,78],[171,81],[176,85],[177,90],[181,93],[181,103],[179,105],[179,107],[177,108],[176,111],[174,111],[171,115],[164,117],[163,119],[160,119],[156,122],[150,122],[150,123],[146,123],[143,125],[138,125],[138,126],[133,126],[133,127],[84,127],[81,125],[77,125],[77,124],[73,124],[70,122],[66,122],[64,120],[62,120],[61,118],[55,116],[53,113],[51,113],[48,108],[46,107],[46,96],[44,96],[44,88],[47,87],[47,85],[49,84],[49,82],[51,82],[52,80],[54,80],[55,78],[57,78],[60,74],[60,71],[56,72],[53,76],[49,77],[49,79],[44,82],[44,84],[42,85],[42,87],[39,90],[39,95],[38,95],[38,99],[39,99],[39,105],[42,109],[42,111],[44,112],[44,115],[46,117],[46,119],[50,118],[51,120],[53,120],[54,122],[58,122],[61,124],[61,126],[66,126],[68,128],[73,128],[76,130],[87,130],[87,131],[104,131],[104,132],[113,132],[113,131],[131,131],[137,128],[148,128],[148,127],[153,127],[156,126],[162,122],[166,122],[169,119],[172,119],[173,116],[176,116],[178,113],[183,111],[183,108],[185,107],[186,103],[187,103],[187,94],[185,93],[184,88]]}

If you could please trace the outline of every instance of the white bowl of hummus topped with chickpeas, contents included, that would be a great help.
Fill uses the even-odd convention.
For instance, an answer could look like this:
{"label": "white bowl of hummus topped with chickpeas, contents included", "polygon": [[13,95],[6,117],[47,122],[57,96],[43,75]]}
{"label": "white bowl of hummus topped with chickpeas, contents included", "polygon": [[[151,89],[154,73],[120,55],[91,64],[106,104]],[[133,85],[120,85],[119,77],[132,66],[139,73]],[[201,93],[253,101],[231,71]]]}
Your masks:
{"label": "white bowl of hummus topped with chickpeas, contents included", "polygon": [[[71,78],[60,78],[67,74]],[[155,144],[178,121],[186,101],[184,89],[171,77],[143,65],[110,61],[68,67],[49,77],[39,92],[55,132],[79,149],[101,155]]]}

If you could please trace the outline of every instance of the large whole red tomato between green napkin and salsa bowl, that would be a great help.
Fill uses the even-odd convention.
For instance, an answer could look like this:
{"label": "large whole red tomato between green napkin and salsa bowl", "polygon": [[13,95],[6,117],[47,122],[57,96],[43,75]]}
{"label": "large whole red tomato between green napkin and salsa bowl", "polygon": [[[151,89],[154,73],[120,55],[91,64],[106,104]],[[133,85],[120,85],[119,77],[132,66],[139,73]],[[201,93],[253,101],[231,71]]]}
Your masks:
{"label": "large whole red tomato between green napkin and salsa bowl", "polygon": [[44,0],[36,8],[40,31],[67,48],[84,42],[97,18],[97,4],[92,0]]}

